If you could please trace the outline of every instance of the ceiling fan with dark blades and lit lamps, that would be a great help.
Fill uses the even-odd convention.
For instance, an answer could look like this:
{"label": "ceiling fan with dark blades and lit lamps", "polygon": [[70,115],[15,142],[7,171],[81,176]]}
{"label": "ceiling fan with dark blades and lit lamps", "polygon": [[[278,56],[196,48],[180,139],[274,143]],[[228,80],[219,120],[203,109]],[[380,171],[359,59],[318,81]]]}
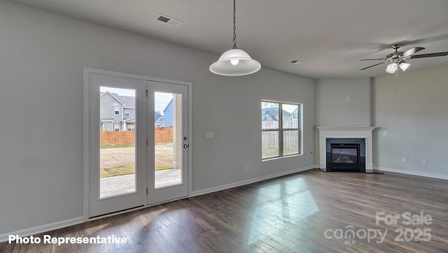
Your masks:
{"label": "ceiling fan with dark blades and lit lamps", "polygon": [[[384,64],[385,62],[391,62],[386,68],[387,73],[395,73],[398,68],[401,68],[402,71],[406,71],[406,69],[411,65],[405,62],[406,59],[417,59],[417,58],[427,58],[427,57],[439,57],[439,56],[447,56],[448,52],[434,52],[431,54],[425,55],[414,55],[416,52],[419,52],[425,48],[411,48],[405,52],[398,52],[398,48],[400,48],[401,44],[393,44],[392,48],[395,49],[395,52],[392,52],[383,59],[361,59],[361,61],[383,61],[379,64]],[[379,64],[374,64],[372,66],[368,66],[367,68],[372,68],[373,66],[377,66]],[[367,68],[361,68],[360,71],[363,71]],[[398,72],[397,72],[398,73]]]}

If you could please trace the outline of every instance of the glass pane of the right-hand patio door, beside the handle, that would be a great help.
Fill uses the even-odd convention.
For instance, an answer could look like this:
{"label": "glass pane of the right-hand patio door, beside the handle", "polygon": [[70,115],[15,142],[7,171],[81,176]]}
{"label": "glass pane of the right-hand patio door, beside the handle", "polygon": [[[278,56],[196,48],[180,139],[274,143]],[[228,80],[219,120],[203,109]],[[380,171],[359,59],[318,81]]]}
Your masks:
{"label": "glass pane of the right-hand patio door, beside the handle", "polygon": [[182,94],[154,94],[155,189],[182,184]]}

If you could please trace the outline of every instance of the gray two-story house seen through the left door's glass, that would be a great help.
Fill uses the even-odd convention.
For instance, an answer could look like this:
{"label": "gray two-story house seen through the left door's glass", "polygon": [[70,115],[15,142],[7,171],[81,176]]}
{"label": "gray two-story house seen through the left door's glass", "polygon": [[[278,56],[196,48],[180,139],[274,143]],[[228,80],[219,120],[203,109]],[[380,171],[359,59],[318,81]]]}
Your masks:
{"label": "gray two-story house seen through the left door's glass", "polygon": [[135,97],[102,92],[99,117],[102,131],[135,130]]}

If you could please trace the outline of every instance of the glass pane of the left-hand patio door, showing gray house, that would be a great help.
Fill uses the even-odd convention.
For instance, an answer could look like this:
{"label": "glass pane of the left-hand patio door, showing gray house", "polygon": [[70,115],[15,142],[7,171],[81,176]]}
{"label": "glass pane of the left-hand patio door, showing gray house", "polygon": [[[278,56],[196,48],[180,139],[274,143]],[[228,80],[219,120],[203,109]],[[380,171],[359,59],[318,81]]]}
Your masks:
{"label": "glass pane of the left-hand patio door, showing gray house", "polygon": [[[135,192],[134,89],[100,87],[99,197]],[[126,110],[128,114],[123,113]]]}

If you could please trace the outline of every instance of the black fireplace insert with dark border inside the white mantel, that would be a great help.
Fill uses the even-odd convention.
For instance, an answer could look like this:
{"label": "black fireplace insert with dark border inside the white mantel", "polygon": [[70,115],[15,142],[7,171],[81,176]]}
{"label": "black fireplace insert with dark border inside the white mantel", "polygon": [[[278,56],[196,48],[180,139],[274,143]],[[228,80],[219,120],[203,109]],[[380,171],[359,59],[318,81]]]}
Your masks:
{"label": "black fireplace insert with dark border inside the white mantel", "polygon": [[327,171],[365,172],[364,138],[327,138]]}

